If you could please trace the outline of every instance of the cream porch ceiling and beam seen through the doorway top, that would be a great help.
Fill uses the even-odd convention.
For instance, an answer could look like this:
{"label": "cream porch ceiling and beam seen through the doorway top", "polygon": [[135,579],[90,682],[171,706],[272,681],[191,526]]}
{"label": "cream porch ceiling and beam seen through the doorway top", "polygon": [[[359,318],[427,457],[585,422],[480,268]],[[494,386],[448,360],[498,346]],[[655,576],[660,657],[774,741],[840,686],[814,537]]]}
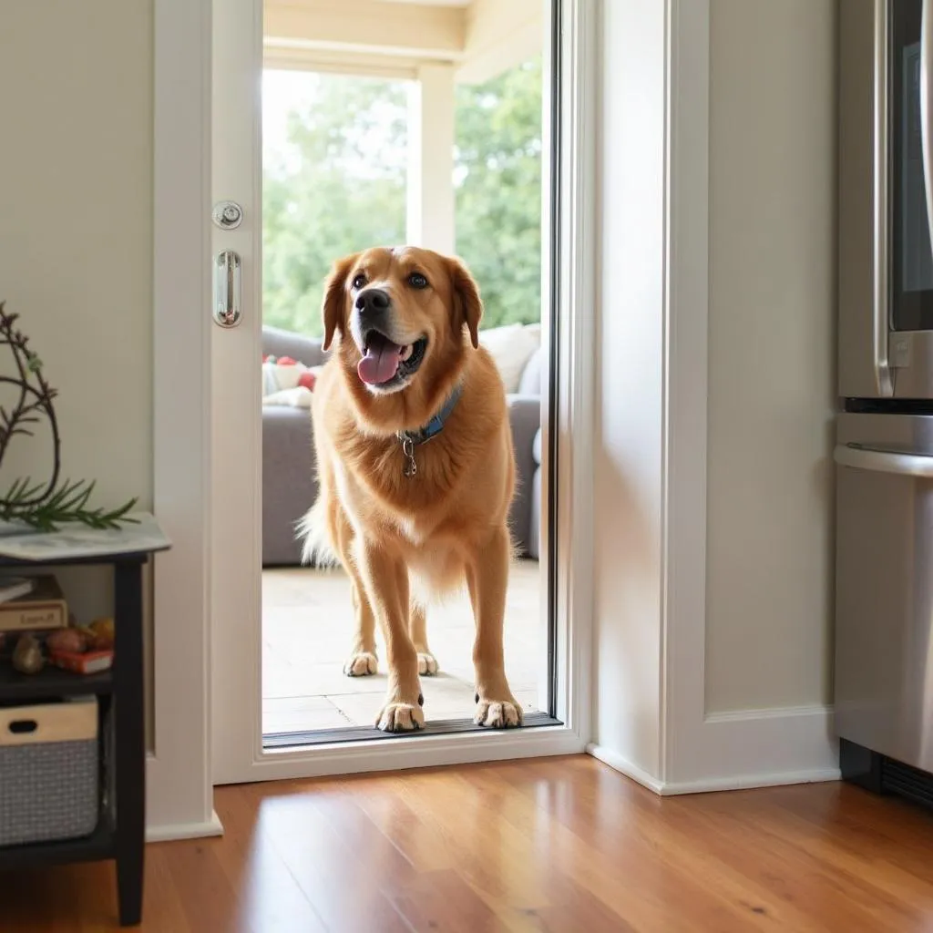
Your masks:
{"label": "cream porch ceiling and beam seen through the doorway top", "polygon": [[265,62],[417,77],[450,63],[479,83],[540,51],[543,0],[266,0]]}

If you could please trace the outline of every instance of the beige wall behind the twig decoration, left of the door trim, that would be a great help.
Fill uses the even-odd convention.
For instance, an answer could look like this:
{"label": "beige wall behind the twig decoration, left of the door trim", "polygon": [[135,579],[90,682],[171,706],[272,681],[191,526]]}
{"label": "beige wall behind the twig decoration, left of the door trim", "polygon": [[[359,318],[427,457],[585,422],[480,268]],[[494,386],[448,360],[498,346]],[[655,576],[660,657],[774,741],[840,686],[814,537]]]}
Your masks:
{"label": "beige wall behind the twig decoration, left of the door trim", "polygon": [[[61,393],[63,474],[148,508],[151,0],[7,3],[0,20],[0,299]],[[0,487],[47,475],[47,438],[21,439]],[[106,581],[65,575],[79,616],[109,606]]]}

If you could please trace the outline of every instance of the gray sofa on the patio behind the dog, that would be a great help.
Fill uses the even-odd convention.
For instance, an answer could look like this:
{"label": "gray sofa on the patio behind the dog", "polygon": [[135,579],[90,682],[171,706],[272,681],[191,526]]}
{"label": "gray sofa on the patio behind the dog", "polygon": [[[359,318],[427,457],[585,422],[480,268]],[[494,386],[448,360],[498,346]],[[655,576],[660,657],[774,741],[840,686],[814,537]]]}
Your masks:
{"label": "gray sofa on the patio behind the dog", "polygon": [[[291,356],[305,366],[319,366],[327,358],[321,342],[274,327],[262,328],[262,354]],[[526,557],[538,556],[541,501],[541,380],[540,350],[522,372],[519,392],[508,396],[518,490],[509,522],[518,548]],[[262,565],[293,566],[301,560],[295,522],[317,495],[313,469],[311,412],[290,406],[262,407]]]}

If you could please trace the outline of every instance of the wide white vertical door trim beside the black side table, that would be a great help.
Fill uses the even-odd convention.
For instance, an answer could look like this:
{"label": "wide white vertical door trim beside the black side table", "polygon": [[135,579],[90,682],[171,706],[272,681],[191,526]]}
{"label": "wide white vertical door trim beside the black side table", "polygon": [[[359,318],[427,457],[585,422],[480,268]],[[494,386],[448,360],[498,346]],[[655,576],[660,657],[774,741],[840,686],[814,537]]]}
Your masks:
{"label": "wide white vertical door trim beside the black side table", "polygon": [[211,0],[154,11],[153,568],[149,839],[220,831],[210,781]]}

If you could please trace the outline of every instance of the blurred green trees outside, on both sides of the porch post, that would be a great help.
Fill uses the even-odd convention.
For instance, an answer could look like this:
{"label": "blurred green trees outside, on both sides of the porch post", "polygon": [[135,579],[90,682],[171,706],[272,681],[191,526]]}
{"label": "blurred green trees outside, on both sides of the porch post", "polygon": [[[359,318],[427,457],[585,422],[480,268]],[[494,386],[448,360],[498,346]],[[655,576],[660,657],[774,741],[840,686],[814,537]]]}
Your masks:
{"label": "blurred green trees outside, on both sides of the porch post", "polygon": [[[263,159],[263,318],[320,336],[333,259],[405,242],[407,87],[331,75],[294,80],[300,103]],[[456,249],[480,282],[484,326],[538,321],[540,59],[458,86],[455,127]]]}

